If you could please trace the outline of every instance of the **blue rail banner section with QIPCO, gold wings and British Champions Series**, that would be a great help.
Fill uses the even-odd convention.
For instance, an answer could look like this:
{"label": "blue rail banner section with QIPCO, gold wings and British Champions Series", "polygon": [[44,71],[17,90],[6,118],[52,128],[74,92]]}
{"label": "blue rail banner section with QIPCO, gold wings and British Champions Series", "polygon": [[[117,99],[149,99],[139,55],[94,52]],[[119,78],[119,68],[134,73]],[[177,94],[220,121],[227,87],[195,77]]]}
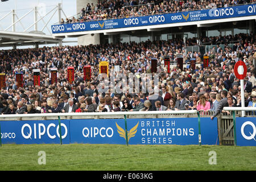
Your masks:
{"label": "blue rail banner section with QIPCO, gold wings and British Champions Series", "polygon": [[[199,144],[197,118],[127,119],[129,144]],[[72,120],[71,143],[126,144],[123,119]],[[218,144],[217,119],[201,118],[202,144]]]}

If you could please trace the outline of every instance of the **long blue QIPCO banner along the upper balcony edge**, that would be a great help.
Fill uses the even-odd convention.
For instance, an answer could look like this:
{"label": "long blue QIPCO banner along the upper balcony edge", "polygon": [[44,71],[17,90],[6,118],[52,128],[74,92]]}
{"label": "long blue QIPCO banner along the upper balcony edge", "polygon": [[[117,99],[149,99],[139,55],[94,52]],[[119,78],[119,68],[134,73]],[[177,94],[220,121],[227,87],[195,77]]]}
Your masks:
{"label": "long blue QIPCO banner along the upper balcony edge", "polygon": [[256,15],[255,5],[242,5],[224,7],[218,9],[187,11],[180,13],[170,13],[152,16],[139,16],[122,19],[110,19],[100,21],[90,21],[82,23],[69,23],[53,25],[52,34],[81,32],[94,30],[108,30],[114,28],[141,27],[158,24],[197,22],[201,20],[214,20],[224,18],[237,18],[241,16]]}

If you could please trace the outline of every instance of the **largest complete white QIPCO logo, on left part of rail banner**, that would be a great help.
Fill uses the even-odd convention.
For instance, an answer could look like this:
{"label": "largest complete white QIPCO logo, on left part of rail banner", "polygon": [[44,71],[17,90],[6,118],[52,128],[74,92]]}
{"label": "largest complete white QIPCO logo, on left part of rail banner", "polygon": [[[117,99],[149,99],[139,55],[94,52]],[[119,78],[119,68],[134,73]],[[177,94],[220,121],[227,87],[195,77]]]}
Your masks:
{"label": "largest complete white QIPCO logo, on left part of rail banner", "polygon": [[[68,129],[64,123],[61,123],[61,138],[67,137]],[[64,127],[64,130],[63,130]],[[56,136],[60,138],[59,125],[50,123],[47,127],[43,123],[34,123],[34,126],[30,126],[27,123],[22,126],[22,137],[25,139],[41,139],[44,135],[47,135],[50,139],[55,139]],[[64,134],[64,135],[63,135]]]}

